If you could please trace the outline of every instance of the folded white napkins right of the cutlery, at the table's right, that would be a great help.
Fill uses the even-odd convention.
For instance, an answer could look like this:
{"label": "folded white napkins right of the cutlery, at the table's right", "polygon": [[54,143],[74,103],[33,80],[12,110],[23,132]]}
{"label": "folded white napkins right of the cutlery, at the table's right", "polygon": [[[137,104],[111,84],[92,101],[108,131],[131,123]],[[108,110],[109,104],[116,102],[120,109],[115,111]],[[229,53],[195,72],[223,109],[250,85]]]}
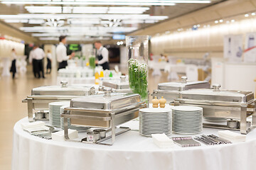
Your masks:
{"label": "folded white napkins right of the cutlery, at the table's right", "polygon": [[229,140],[230,142],[245,142],[246,135],[241,135],[236,132],[231,132],[230,130],[219,130],[219,137]]}

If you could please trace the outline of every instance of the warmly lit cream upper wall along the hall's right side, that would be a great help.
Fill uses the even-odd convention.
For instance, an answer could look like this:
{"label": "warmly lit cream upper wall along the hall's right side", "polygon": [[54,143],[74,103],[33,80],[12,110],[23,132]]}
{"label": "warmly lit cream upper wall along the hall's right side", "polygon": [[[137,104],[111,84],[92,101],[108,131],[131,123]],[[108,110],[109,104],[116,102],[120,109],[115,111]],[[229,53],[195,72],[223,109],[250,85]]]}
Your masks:
{"label": "warmly lit cream upper wall along the hall's right side", "polygon": [[166,53],[176,57],[201,58],[206,52],[211,57],[223,57],[224,35],[256,32],[256,18],[248,18],[234,23],[219,24],[198,30],[163,34],[151,38],[151,52],[154,55]]}

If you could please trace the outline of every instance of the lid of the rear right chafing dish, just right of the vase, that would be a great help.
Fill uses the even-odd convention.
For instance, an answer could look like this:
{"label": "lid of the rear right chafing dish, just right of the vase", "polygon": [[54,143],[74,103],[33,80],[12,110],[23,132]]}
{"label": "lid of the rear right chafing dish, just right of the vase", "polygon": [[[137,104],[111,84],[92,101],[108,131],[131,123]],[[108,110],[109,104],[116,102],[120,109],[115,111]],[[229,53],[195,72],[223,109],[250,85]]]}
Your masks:
{"label": "lid of the rear right chafing dish, just right of the vase", "polygon": [[158,89],[166,91],[184,91],[188,89],[202,89],[210,87],[208,81],[187,81],[186,77],[181,77],[181,79],[181,81],[160,83],[158,85]]}

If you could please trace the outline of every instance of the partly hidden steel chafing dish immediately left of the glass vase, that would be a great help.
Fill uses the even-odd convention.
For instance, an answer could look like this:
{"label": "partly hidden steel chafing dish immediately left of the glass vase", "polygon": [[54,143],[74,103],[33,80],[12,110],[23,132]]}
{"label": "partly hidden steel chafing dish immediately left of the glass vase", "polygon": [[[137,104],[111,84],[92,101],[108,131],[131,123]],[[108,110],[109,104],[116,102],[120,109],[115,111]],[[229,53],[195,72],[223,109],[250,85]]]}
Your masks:
{"label": "partly hidden steel chafing dish immediately left of the glass vase", "polygon": [[102,81],[102,86],[110,87],[114,92],[132,92],[132,90],[129,89],[129,81],[126,79],[125,76],[121,76],[119,80],[104,80]]}

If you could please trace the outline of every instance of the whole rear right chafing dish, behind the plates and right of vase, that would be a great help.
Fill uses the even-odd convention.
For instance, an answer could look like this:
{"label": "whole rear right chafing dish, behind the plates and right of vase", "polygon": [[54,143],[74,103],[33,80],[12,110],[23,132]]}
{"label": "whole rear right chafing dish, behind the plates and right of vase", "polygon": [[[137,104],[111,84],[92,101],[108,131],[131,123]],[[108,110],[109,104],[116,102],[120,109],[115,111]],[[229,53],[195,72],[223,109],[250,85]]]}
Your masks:
{"label": "whole rear right chafing dish, behind the plates and right of vase", "polygon": [[210,88],[208,81],[188,81],[187,77],[181,77],[181,81],[160,83],[158,89],[153,91],[152,96],[153,98],[164,96],[167,102],[171,102],[178,98],[181,91],[204,88]]}

